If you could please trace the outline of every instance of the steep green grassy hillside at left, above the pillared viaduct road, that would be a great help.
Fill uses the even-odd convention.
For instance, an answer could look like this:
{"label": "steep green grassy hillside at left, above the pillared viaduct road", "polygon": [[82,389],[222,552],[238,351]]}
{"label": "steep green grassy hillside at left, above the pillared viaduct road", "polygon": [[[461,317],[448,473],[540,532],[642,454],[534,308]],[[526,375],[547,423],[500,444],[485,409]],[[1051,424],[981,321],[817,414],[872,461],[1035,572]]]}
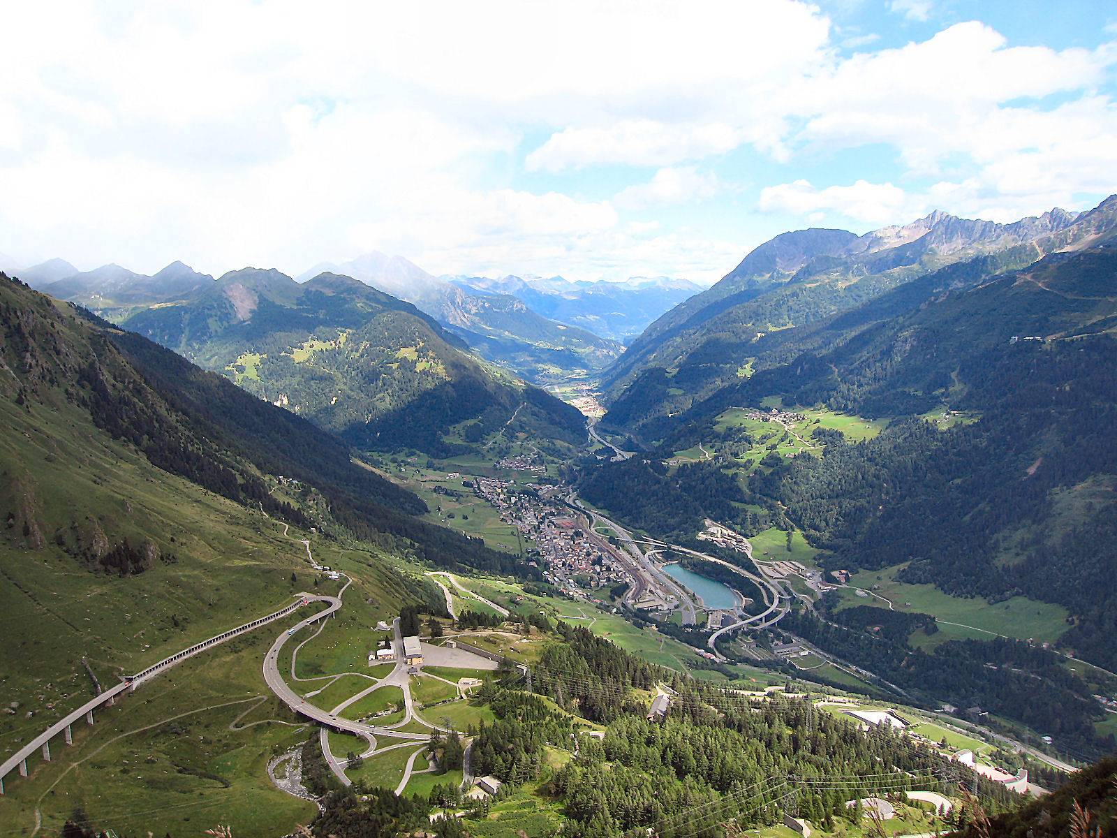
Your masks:
{"label": "steep green grassy hillside at left, above the pillared viaduct road", "polygon": [[[0,645],[0,683],[4,703],[21,708],[0,715],[0,746],[92,696],[82,657],[102,684],[114,684],[314,590],[295,531],[283,537],[281,527],[258,512],[86,435],[69,408],[13,407],[0,401],[0,421],[10,429],[0,440],[0,494],[22,492],[48,535],[95,522],[111,544],[150,540],[165,561],[122,578],[93,570],[49,539],[32,550],[7,532],[0,537],[0,634],[20,628],[18,641]],[[83,511],[77,518],[75,510]],[[336,584],[324,580],[318,590],[334,592]],[[370,596],[389,601],[392,587]]]}

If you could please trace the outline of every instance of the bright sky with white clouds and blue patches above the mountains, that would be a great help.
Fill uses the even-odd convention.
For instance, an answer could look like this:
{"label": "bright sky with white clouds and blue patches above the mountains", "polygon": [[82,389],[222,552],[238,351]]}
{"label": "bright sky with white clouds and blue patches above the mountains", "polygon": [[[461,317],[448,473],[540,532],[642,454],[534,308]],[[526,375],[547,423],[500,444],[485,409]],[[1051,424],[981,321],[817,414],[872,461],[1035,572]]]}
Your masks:
{"label": "bright sky with white clouds and blue patches above the mountains", "polygon": [[0,254],[708,284],[1117,191],[1117,4],[4,3]]}

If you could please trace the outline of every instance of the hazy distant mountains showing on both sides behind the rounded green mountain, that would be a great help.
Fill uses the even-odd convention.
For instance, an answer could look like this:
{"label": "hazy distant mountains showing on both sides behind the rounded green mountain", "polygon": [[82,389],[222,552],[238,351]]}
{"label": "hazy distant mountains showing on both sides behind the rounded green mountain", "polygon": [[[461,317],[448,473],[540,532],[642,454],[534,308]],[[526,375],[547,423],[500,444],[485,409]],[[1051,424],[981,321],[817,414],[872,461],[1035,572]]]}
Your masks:
{"label": "hazy distant mountains showing on both sides behind the rounded green mountain", "polygon": [[[375,251],[345,263],[321,263],[296,279],[323,273],[353,277],[414,304],[485,360],[538,385],[596,377],[621,355],[622,341],[699,291],[693,283],[667,277],[624,283],[436,277],[403,257]],[[182,299],[213,282],[181,261],[153,276],[112,264],[79,272],[64,259],[15,274],[31,287],[114,322]]]}

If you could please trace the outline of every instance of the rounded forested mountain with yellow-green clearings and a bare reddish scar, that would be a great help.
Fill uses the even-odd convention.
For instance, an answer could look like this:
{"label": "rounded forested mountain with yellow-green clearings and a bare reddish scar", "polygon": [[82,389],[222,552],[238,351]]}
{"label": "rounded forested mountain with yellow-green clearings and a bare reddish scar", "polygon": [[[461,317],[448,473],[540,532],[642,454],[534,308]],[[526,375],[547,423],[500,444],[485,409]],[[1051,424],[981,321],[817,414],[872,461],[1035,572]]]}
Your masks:
{"label": "rounded forested mountain with yellow-green clearings and a bare reddish scar", "polygon": [[[350,277],[299,284],[245,268],[122,325],[362,448],[450,455],[514,413],[513,430],[543,442],[581,434],[573,408],[486,368],[429,315]],[[477,426],[470,438],[448,438],[461,423]]]}

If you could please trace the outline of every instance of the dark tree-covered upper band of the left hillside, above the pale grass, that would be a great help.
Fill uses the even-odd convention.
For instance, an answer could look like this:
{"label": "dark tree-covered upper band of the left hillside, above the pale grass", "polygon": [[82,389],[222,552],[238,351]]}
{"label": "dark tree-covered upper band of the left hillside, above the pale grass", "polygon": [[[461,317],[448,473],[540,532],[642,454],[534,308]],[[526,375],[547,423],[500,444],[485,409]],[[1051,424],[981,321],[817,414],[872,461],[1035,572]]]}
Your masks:
{"label": "dark tree-covered upper band of the left hillside, above the pale grass", "polygon": [[[432,561],[494,569],[510,561],[416,521],[421,499],[355,464],[346,444],[305,419],[17,280],[3,277],[0,295],[3,387],[13,403],[76,415],[69,421],[88,426],[84,434],[122,440],[164,472],[297,525],[330,525]],[[278,476],[296,479],[306,503],[277,493]],[[20,512],[18,495],[12,527],[26,525],[29,543],[46,543],[54,530]]]}

